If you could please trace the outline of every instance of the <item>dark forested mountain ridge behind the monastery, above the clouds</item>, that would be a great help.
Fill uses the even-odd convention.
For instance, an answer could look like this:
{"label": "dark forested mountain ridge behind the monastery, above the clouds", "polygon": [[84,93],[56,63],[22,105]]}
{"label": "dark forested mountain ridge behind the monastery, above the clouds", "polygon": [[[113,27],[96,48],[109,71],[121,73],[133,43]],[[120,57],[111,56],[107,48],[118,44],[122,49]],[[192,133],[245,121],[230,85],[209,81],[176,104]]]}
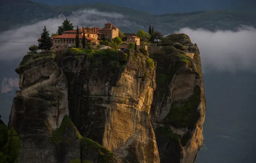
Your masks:
{"label": "dark forested mountain ridge behind the monastery, above the clouds", "polygon": [[[133,2],[133,0],[131,0],[131,2]],[[44,3],[47,3],[47,0]],[[56,4],[61,5],[64,3]],[[82,9],[96,9],[101,12],[116,12],[125,15],[125,18],[122,18],[122,23],[118,18],[104,15],[93,16],[89,19],[95,21],[96,19],[98,20],[100,18],[104,18],[104,20],[120,26],[120,30],[127,33],[136,33],[137,28],[148,30],[149,24],[154,25],[155,29],[160,30],[163,34],[172,33],[182,27],[189,27],[192,29],[204,28],[211,31],[234,30],[241,24],[256,27],[256,12],[251,12],[248,10],[213,10],[195,12],[182,12],[180,10],[180,12],[176,13],[154,15],[141,10],[113,6],[110,4],[97,3],[85,5],[49,6],[29,0],[10,0],[3,2],[0,1],[0,31],[11,30],[24,25],[34,24],[38,21],[55,18],[61,14],[69,17],[72,15],[73,11]],[[134,25],[128,27],[128,24],[136,24],[137,27]]]}

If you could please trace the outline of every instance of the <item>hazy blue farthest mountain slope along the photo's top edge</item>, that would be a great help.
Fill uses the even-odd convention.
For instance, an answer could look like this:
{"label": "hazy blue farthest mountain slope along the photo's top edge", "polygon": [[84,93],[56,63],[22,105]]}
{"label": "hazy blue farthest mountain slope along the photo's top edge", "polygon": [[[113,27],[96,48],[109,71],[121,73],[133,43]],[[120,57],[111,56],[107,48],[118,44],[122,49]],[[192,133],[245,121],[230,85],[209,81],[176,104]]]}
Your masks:
{"label": "hazy blue farthest mountain slope along the photo's top edge", "polygon": [[105,3],[137,9],[151,14],[166,14],[174,12],[209,11],[217,9],[244,9],[255,7],[253,0],[33,0],[51,6],[84,5]]}

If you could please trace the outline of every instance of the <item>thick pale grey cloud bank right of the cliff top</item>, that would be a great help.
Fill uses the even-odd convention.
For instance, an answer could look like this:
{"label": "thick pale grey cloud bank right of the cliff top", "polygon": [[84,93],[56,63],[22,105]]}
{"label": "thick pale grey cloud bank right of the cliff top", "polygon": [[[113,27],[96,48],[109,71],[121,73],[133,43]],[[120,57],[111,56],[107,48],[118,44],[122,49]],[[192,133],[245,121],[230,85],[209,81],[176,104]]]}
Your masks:
{"label": "thick pale grey cloud bank right of the cliff top", "polygon": [[256,70],[256,29],[253,27],[241,26],[236,31],[215,32],[182,28],[177,33],[186,33],[198,45],[204,71]]}

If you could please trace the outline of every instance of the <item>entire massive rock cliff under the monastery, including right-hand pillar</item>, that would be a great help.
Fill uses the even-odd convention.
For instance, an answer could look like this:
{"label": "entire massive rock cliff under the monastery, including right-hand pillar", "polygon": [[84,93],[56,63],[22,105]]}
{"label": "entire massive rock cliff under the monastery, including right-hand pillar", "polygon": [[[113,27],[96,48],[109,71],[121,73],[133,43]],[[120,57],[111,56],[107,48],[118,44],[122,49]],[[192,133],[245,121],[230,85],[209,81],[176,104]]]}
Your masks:
{"label": "entire massive rock cliff under the monastery, including right-hand pillar", "polygon": [[[185,34],[164,41],[149,56],[80,48],[25,55],[8,127],[0,124],[17,139],[10,163],[194,163],[205,114],[200,53]],[[0,160],[9,156],[6,134]]]}

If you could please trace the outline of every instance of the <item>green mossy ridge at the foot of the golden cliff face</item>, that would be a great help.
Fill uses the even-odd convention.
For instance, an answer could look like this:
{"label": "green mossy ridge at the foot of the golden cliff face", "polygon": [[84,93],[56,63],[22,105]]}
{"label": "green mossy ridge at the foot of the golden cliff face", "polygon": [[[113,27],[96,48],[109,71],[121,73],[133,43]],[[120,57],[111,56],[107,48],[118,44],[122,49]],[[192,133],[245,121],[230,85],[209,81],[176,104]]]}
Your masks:
{"label": "green mossy ridge at the foot of the golden cliff face", "polygon": [[[65,154],[64,148],[78,142],[77,145],[81,145],[82,163],[92,163],[95,159],[98,163],[116,163],[115,160],[119,160],[115,154],[101,147],[97,142],[83,138],[68,115],[64,116],[61,126],[53,132],[50,139],[55,144],[56,152],[60,157]],[[81,163],[81,158],[71,160],[70,163]]]}

